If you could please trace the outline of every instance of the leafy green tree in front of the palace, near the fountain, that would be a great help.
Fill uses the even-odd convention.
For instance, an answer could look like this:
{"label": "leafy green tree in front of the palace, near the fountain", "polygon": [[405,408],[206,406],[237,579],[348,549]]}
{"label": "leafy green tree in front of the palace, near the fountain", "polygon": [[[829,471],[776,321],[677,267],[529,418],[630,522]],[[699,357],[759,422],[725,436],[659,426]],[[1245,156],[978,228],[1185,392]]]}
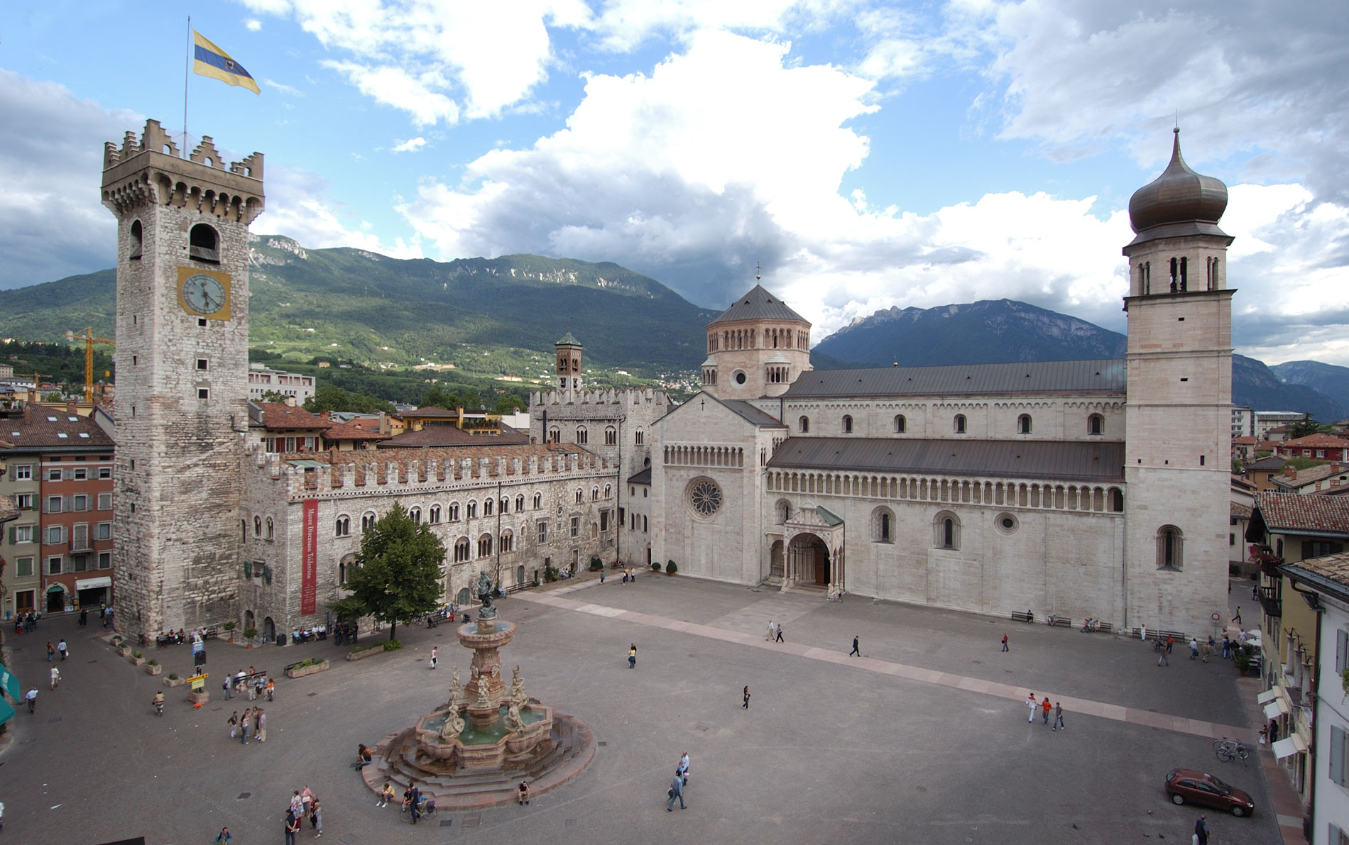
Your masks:
{"label": "leafy green tree in front of the palace, near the fountain", "polygon": [[347,577],[351,596],[333,602],[339,616],[374,616],[389,624],[394,639],[398,623],[430,613],[444,597],[441,586],[445,547],[430,526],[415,523],[399,504],[360,538],[355,571]]}

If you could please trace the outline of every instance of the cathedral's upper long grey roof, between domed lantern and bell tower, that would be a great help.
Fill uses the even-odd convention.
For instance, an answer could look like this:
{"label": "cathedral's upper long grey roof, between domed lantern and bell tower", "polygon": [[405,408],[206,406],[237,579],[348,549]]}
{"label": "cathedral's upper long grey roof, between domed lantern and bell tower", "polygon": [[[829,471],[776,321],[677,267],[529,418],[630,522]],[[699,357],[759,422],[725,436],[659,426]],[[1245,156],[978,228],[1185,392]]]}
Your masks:
{"label": "cathedral's upper long grey roof, between domed lantern and bell tower", "polygon": [[876,367],[803,372],[784,398],[960,396],[1010,394],[1124,394],[1125,365],[1118,358],[1032,361],[1024,364],[951,364]]}

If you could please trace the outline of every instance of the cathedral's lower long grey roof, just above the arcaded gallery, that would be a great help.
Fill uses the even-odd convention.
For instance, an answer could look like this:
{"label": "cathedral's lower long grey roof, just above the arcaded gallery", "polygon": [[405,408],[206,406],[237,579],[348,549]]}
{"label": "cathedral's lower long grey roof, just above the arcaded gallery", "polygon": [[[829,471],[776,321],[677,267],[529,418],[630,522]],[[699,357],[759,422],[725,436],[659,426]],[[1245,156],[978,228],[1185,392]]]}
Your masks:
{"label": "cathedral's lower long grey roof, just above the arcaded gallery", "polygon": [[777,447],[768,465],[776,469],[1122,481],[1124,443],[792,437]]}

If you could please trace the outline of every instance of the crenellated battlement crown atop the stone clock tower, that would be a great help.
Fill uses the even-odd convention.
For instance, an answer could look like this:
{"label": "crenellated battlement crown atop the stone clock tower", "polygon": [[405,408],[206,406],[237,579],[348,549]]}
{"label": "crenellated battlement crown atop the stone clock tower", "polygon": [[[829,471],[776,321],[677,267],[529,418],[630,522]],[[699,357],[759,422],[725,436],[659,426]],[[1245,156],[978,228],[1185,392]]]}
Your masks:
{"label": "crenellated battlement crown atop the stone clock tower", "polygon": [[127,132],[121,147],[103,146],[103,204],[115,214],[173,205],[248,224],[263,212],[262,174],[260,152],[227,166],[209,135],[183,159],[159,121],[147,120],[139,139]]}

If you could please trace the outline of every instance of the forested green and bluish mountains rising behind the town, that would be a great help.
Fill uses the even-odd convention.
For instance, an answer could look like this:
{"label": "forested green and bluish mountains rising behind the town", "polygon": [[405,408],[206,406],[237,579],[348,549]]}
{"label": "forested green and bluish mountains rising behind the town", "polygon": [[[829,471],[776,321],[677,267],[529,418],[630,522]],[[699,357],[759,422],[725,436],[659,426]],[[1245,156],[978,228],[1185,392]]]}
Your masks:
{"label": "forested green and bluish mountains rising behind the town", "polygon": [[[552,342],[571,332],[587,369],[637,380],[692,380],[706,357],[700,309],[656,279],[612,263],[537,255],[391,259],[306,249],[251,236],[250,345],[286,361],[345,360],[376,369],[453,365],[468,376],[552,379]],[[59,342],[66,330],[113,330],[112,270],[0,291],[0,336]],[[888,309],[819,342],[819,369],[1122,357],[1126,338],[1010,299]],[[409,398],[415,399],[415,398]],[[1349,369],[1292,361],[1271,369],[1233,356],[1233,402],[1259,410],[1349,416]]]}

